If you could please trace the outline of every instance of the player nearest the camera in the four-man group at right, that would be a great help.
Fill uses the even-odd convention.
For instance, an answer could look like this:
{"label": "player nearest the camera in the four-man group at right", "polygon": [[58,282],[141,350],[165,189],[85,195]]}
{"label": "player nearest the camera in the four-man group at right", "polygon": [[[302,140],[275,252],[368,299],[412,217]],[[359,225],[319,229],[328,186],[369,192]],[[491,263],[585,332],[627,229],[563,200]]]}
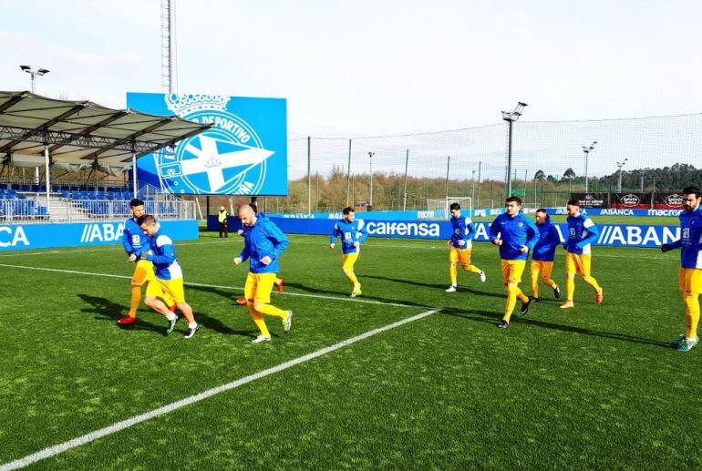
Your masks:
{"label": "player nearest the camera in the four-man group at right", "polygon": [[539,241],[539,230],[532,220],[521,212],[521,199],[511,196],[505,200],[505,212],[490,224],[490,242],[500,247],[502,280],[507,290],[507,304],[501,329],[510,326],[511,313],[517,299],[521,301],[520,313],[529,312],[529,298],[519,287],[529,251]]}

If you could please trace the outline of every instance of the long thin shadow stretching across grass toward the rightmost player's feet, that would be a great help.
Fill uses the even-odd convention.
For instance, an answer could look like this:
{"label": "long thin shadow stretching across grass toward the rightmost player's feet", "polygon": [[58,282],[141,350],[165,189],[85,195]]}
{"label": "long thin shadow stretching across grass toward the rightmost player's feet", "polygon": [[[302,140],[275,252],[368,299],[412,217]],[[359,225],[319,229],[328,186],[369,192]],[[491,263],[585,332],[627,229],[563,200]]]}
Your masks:
{"label": "long thin shadow stretching across grass toward the rightmost player's feet", "polygon": [[[531,311],[530,311],[531,312]],[[499,312],[487,312],[471,309],[456,309],[456,308],[445,308],[442,309],[439,314],[446,314],[456,317],[461,317],[463,319],[469,319],[470,321],[478,321],[479,323],[490,323],[492,325],[497,325],[502,319],[502,315]],[[471,315],[474,314],[474,315]],[[549,323],[546,321],[540,321],[534,319],[532,314],[527,314],[526,316],[520,316],[519,314],[512,315],[512,321],[516,319],[517,323],[525,323],[529,325],[535,325],[537,327],[542,327],[543,329],[552,329],[555,331],[569,332],[569,333],[580,333],[583,335],[592,335],[594,337],[602,337],[605,339],[619,340],[631,343],[642,343],[645,345],[654,345],[656,347],[670,348],[670,343],[659,342],[656,340],[645,339],[643,337],[636,337],[635,335],[627,335],[625,333],[614,333],[614,332],[600,332],[594,331],[592,329],[586,329],[584,327],[576,327],[573,325],[564,325],[560,323]]]}

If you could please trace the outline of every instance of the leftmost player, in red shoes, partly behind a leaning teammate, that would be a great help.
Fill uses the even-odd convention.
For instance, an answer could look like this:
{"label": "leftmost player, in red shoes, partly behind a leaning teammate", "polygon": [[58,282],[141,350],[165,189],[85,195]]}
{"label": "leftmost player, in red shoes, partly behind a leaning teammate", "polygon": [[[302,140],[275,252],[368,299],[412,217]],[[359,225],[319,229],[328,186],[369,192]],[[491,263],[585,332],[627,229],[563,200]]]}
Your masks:
{"label": "leftmost player, in red shoes, partly behind a leaning teammate", "polygon": [[[141,302],[141,287],[149,285],[154,279],[153,263],[142,260],[140,258],[142,251],[149,251],[149,236],[144,233],[137,220],[144,215],[144,201],[135,198],[129,201],[129,210],[131,210],[131,218],[124,221],[124,232],[122,232],[122,246],[127,256],[135,255],[136,266],[134,274],[131,275],[131,304],[129,305],[129,313],[119,319],[117,323],[120,325],[129,325],[137,322],[137,309]],[[175,311],[175,304],[168,295],[163,299],[169,307],[170,311]]]}

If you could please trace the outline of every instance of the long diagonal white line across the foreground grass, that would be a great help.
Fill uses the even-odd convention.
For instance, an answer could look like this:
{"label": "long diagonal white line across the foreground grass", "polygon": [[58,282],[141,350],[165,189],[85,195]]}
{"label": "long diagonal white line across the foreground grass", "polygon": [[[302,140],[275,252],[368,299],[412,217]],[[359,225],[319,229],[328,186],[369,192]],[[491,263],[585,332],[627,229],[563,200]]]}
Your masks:
{"label": "long diagonal white line across the foreground grass", "polygon": [[423,319],[423,318],[427,317],[428,315],[431,315],[431,314],[433,314],[435,312],[439,312],[439,311],[440,311],[440,309],[432,309],[432,310],[429,310],[426,312],[421,312],[417,315],[413,315],[412,317],[408,317],[407,319],[397,321],[397,323],[390,323],[390,324],[387,324],[383,327],[378,327],[377,329],[373,329],[372,331],[368,331],[366,333],[361,333],[360,335],[356,335],[356,337],[351,337],[350,339],[346,339],[342,342],[335,343],[335,344],[330,345],[328,347],[317,350],[316,352],[307,353],[303,356],[294,358],[293,360],[290,360],[290,361],[287,361],[284,363],[280,363],[276,366],[265,369],[259,373],[249,374],[248,376],[244,376],[243,378],[232,381],[231,383],[222,384],[221,386],[213,387],[212,389],[208,389],[207,391],[204,391],[200,394],[191,395],[190,397],[186,397],[184,399],[181,399],[180,401],[166,404],[166,405],[159,407],[158,409],[154,409],[150,412],[140,414],[140,415],[135,415],[129,419],[122,420],[116,424],[108,425],[107,427],[100,428],[98,430],[90,432],[89,434],[78,436],[77,438],[74,438],[72,440],[68,440],[67,442],[64,442],[62,444],[49,446],[47,448],[44,448],[41,451],[33,453],[32,455],[27,455],[24,458],[20,458],[20,459],[17,459],[15,461],[11,461],[9,463],[5,463],[5,465],[0,466],[0,471],[5,471],[5,470],[9,471],[10,469],[18,469],[20,467],[29,466],[33,463],[36,463],[37,461],[49,458],[51,456],[57,456],[58,454],[61,454],[67,450],[70,450],[72,448],[76,448],[77,446],[80,446],[80,445],[85,445],[85,444],[90,443],[94,440],[97,440],[98,438],[102,438],[103,436],[114,434],[116,432],[124,430],[125,428],[129,428],[132,425],[140,424],[142,422],[145,422],[145,421],[150,420],[152,418],[158,417],[160,415],[169,414],[170,412],[173,412],[177,409],[180,409],[181,407],[185,407],[186,405],[198,403],[204,399],[212,397],[215,394],[220,394],[220,393],[223,393],[225,391],[229,391],[231,389],[237,388],[239,386],[243,386],[244,384],[252,383],[253,381],[256,381],[257,379],[261,379],[265,376],[269,376],[271,374],[275,374],[275,373],[284,371],[284,370],[291,368],[297,364],[309,362],[310,360],[314,360],[315,358],[320,357],[322,355],[325,355],[326,353],[332,353],[336,350],[339,350],[341,348],[346,347],[347,345],[350,345],[350,344],[356,343],[356,342],[360,342],[362,340],[367,339],[368,337],[372,337],[373,335],[377,335],[378,333],[384,333],[384,332],[389,331],[391,329],[395,329],[396,327],[399,327],[400,325],[404,325],[406,323],[413,323],[415,321],[418,321],[419,319]]}

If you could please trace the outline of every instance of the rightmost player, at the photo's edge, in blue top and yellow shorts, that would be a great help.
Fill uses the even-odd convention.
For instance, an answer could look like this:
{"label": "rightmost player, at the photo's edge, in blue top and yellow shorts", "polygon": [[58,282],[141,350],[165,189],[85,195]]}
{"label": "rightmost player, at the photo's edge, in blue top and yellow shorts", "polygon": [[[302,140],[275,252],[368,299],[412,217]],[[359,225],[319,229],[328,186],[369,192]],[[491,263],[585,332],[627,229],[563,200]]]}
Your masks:
{"label": "rightmost player, at the photo's edge, in blue top and yellow shorts", "polygon": [[663,244],[662,251],[680,249],[680,291],[687,314],[687,332],[672,342],[678,352],[689,352],[699,338],[699,294],[702,293],[702,193],[697,187],[683,189],[680,239]]}

